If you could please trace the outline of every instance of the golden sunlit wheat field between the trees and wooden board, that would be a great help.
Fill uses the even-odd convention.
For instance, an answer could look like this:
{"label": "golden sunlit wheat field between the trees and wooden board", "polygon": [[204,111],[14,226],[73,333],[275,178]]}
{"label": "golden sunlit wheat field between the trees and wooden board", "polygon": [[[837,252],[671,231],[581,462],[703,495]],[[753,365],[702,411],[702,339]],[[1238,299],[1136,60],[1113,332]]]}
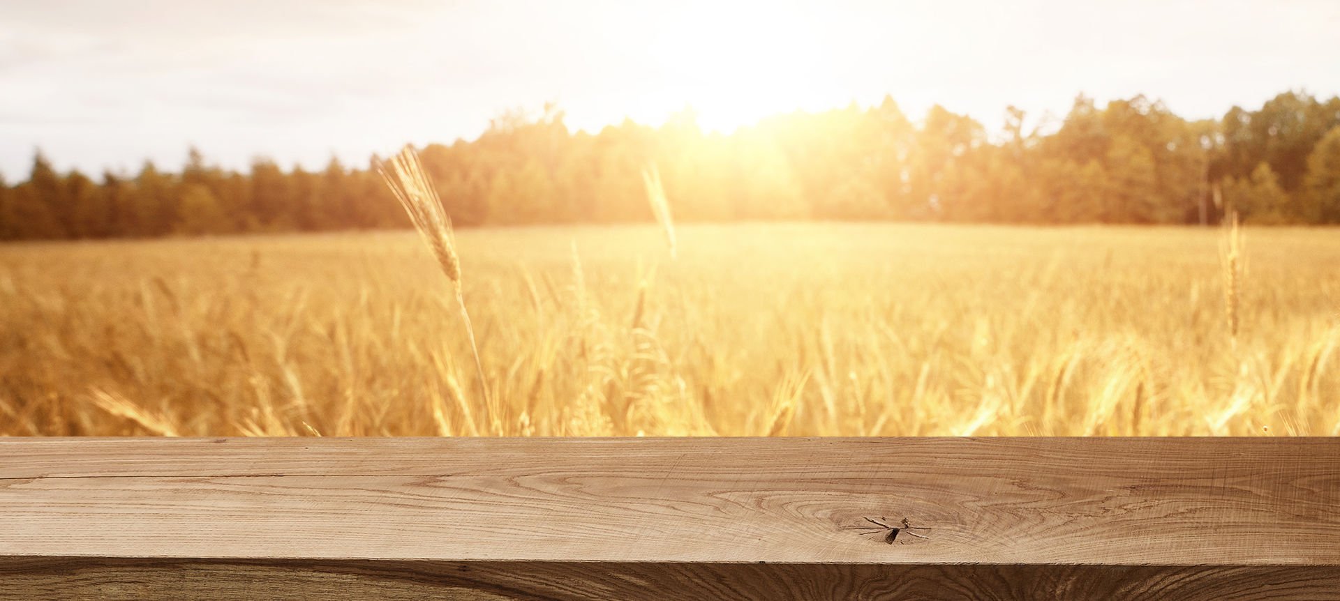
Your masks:
{"label": "golden sunlit wheat field between the trees and wooden board", "polygon": [[1340,232],[1244,234],[461,230],[488,394],[413,233],[4,245],[0,434],[1340,434]]}

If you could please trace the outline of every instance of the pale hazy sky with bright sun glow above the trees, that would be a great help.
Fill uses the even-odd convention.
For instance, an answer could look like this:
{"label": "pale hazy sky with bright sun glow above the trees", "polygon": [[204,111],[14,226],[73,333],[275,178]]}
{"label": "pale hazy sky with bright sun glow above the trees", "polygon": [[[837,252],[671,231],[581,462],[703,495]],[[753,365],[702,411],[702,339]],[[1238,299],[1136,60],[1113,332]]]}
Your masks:
{"label": "pale hazy sky with bright sun glow above the trees", "polygon": [[1006,104],[1147,94],[1185,116],[1340,94],[1340,1],[4,0],[0,173],[363,165],[556,100],[575,127],[732,128],[891,94],[994,127]]}

